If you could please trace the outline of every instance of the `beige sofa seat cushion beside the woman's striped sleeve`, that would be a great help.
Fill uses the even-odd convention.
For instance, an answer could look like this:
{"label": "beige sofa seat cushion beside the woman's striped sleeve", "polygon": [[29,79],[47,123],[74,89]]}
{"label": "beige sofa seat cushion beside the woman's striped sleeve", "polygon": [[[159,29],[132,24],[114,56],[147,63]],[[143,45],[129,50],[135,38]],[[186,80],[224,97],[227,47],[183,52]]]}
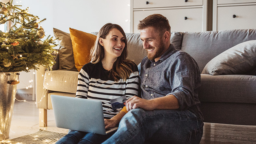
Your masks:
{"label": "beige sofa seat cushion beside the woman's striped sleeve", "polygon": [[44,77],[44,88],[53,91],[76,93],[78,74],[78,71],[48,71]]}

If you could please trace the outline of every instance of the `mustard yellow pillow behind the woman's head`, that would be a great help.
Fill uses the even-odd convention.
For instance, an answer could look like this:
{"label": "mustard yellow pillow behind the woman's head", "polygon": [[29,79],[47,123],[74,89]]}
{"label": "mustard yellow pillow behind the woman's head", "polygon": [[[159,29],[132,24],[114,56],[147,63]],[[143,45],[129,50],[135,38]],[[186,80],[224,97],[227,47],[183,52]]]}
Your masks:
{"label": "mustard yellow pillow behind the woman's head", "polygon": [[93,47],[97,36],[71,28],[69,28],[69,30],[74,53],[75,67],[80,71],[83,65],[90,62],[90,50]]}

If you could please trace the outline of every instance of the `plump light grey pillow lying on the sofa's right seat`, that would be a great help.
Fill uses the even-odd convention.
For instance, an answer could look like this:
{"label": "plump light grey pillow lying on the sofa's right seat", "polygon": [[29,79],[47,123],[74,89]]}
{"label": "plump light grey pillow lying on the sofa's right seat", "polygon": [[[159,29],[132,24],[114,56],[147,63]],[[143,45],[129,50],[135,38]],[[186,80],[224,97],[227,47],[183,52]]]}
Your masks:
{"label": "plump light grey pillow lying on the sofa's right seat", "polygon": [[[256,40],[242,42],[214,57],[202,74],[251,74],[256,67]],[[254,74],[255,75],[255,74]]]}

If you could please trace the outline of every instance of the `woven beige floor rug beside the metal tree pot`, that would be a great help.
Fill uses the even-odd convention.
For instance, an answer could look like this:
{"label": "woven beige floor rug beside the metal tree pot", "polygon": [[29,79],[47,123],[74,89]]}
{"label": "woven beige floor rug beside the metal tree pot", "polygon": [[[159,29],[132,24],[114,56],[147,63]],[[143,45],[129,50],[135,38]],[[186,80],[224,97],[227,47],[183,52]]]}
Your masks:
{"label": "woven beige floor rug beside the metal tree pot", "polygon": [[66,134],[63,133],[50,132],[40,129],[38,132],[33,134],[0,141],[0,144],[55,144],[58,139],[65,135]]}

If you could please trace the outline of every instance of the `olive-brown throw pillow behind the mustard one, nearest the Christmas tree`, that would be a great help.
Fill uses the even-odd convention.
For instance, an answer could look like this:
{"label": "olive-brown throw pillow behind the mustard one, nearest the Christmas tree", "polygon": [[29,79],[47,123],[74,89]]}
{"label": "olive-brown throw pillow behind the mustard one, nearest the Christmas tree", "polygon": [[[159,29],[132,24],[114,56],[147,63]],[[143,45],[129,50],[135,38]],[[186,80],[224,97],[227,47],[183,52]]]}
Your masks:
{"label": "olive-brown throw pillow behind the mustard one, nearest the Christmas tree", "polygon": [[77,71],[75,67],[72,42],[70,34],[56,28],[53,28],[54,36],[58,39],[59,49],[59,70]]}

